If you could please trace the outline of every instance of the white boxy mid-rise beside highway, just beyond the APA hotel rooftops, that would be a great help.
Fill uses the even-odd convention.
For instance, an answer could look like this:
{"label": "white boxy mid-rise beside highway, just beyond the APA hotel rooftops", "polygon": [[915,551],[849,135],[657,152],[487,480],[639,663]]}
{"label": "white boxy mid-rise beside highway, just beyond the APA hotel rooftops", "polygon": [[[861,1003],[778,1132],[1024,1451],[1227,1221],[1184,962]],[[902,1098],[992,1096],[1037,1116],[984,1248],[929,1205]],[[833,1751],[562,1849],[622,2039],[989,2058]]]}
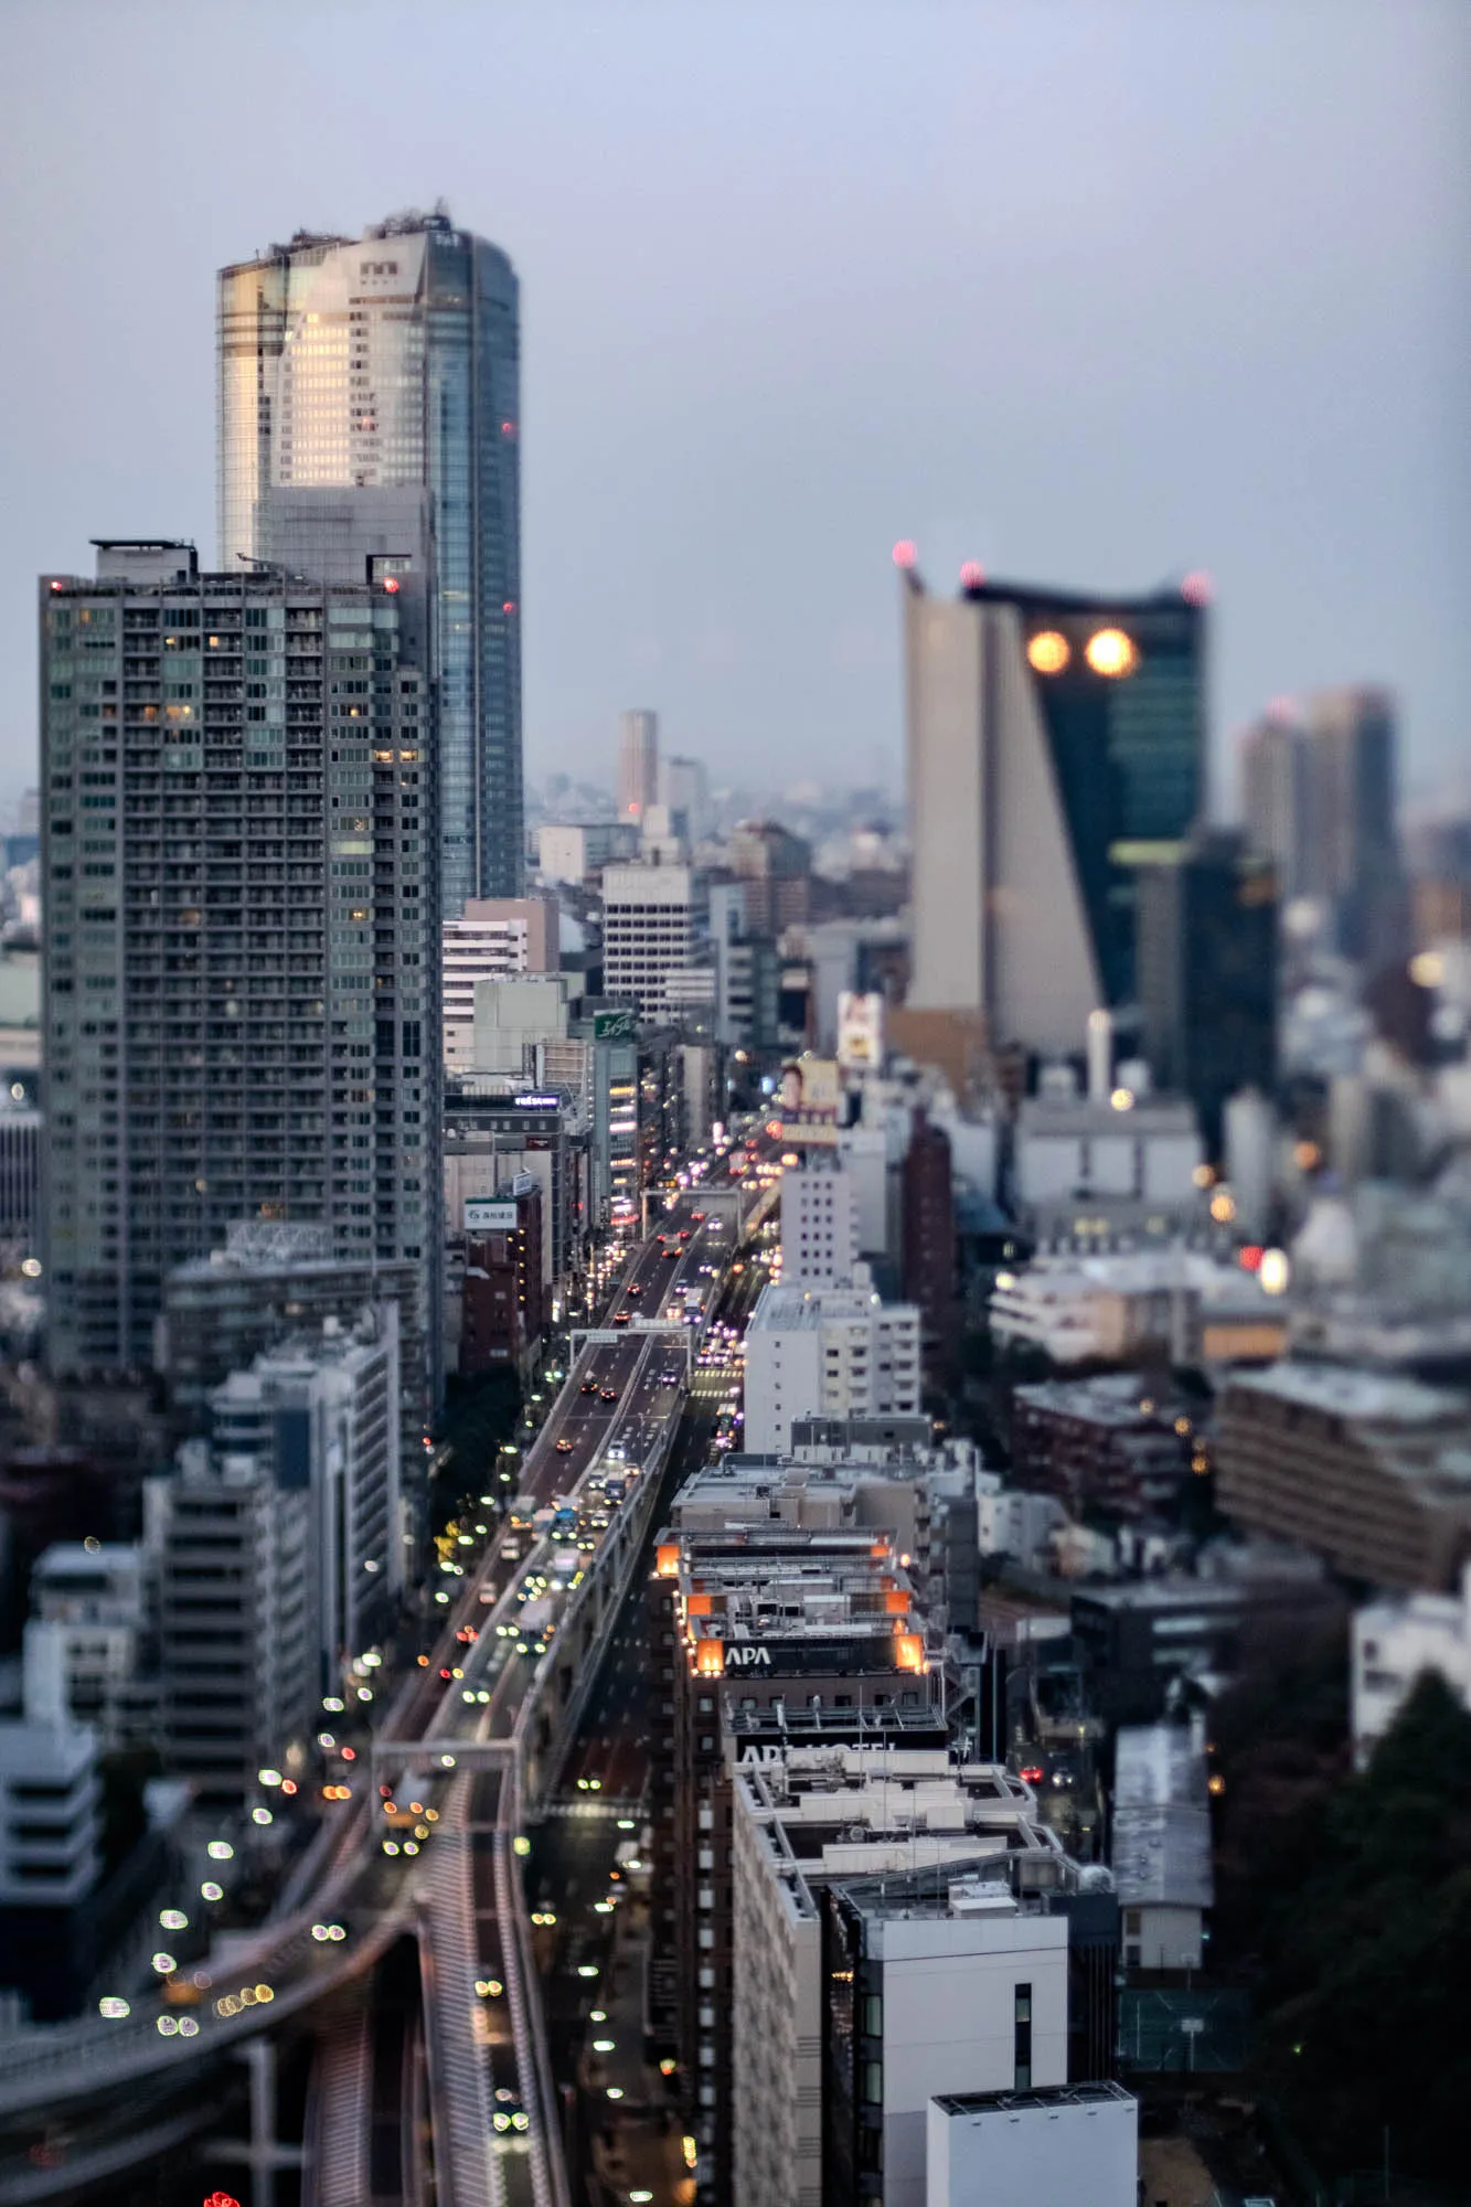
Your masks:
{"label": "white boxy mid-rise beside highway, just beyond the APA hotel rooftops", "polygon": [[786,1454],[793,1419],[919,1410],[919,1307],[870,1287],[773,1282],[747,1326],[747,1424],[753,1454]]}

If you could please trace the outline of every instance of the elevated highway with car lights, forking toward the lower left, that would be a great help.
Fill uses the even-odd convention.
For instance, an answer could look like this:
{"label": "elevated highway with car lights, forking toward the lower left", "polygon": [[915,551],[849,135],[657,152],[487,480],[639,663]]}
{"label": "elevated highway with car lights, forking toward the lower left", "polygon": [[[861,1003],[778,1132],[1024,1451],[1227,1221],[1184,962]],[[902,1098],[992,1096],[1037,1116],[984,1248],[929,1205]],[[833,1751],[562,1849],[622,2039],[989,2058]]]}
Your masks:
{"label": "elevated highway with car lights, forking toward the lower left", "polygon": [[[210,1953],[199,2006],[146,1997],[119,2019],[0,2039],[0,2207],[84,2198],[157,2158],[208,2121],[216,2081],[252,2039],[307,2017],[320,2028],[307,2203],[393,2196],[373,2169],[362,2187],[349,2132],[364,2130],[380,2165],[393,2158],[382,2141],[400,2136],[398,2196],[426,2196],[406,2121],[417,2075],[437,2207],[570,2207],[521,1896],[523,1825],[557,1785],[627,1591],[736,1220],[733,1203],[696,1192],[632,1249],[605,1324],[521,1459],[519,1494],[537,1518],[561,1505],[557,1529],[506,1521],[479,1563],[444,1576],[440,1638],[380,1704],[371,1781],[325,1821],[258,1933]],[[422,1808],[413,1825],[402,1821],[406,1781]],[[380,1788],[393,1790],[393,1819]],[[349,1938],[316,1940],[322,1920],[345,1922]],[[422,2046],[400,2044],[393,2105],[373,1995],[406,1938],[420,1953]],[[256,2198],[269,2203],[269,2176]]]}

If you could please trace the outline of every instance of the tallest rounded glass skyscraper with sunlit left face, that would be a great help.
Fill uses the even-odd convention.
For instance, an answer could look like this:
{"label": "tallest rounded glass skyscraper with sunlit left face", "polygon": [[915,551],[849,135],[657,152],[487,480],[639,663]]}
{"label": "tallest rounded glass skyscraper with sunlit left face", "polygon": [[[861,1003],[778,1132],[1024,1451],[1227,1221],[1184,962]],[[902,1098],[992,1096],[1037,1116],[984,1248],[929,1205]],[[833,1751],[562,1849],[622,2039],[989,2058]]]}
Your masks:
{"label": "tallest rounded glass skyscraper with sunlit left face", "polygon": [[221,569],[269,556],[276,492],[431,492],[446,918],[521,892],[517,298],[442,210],[219,274]]}

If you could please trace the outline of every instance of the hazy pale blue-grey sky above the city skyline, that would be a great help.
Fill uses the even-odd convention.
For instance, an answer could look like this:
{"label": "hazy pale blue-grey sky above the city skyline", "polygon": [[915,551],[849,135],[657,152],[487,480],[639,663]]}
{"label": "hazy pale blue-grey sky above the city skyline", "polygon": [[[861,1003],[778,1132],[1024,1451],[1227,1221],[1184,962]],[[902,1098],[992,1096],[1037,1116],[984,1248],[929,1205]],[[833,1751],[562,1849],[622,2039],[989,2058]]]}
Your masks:
{"label": "hazy pale blue-grey sky above the city skyline", "polygon": [[925,576],[1217,580],[1217,788],[1372,678],[1471,795],[1467,0],[4,0],[0,790],[38,569],[214,545],[212,280],[448,199],[523,300],[528,772],[897,777]]}

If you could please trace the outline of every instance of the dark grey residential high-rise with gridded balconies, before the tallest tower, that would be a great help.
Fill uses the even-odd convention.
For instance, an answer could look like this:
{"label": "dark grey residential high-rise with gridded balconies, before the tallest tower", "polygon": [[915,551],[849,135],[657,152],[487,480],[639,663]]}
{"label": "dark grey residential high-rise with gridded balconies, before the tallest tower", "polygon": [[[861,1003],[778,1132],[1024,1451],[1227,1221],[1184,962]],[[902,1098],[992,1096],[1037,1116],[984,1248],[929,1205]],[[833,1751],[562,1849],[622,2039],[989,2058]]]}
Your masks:
{"label": "dark grey residential high-rise with gridded balconies, before the tallest tower", "polygon": [[99,545],[42,627],[49,1362],[137,1371],[241,1218],[422,1267],[437,1368],[431,578]]}

